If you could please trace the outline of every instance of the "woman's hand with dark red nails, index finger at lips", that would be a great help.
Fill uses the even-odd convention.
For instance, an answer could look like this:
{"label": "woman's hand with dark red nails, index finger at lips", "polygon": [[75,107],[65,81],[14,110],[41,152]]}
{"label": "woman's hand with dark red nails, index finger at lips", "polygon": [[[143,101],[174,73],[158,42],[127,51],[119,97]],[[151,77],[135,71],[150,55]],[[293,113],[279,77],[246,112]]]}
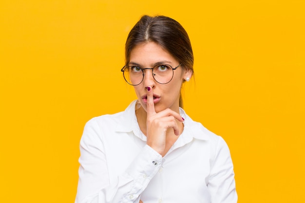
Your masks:
{"label": "woman's hand with dark red nails, index finger at lips", "polygon": [[179,135],[179,128],[176,119],[183,122],[181,115],[171,109],[166,109],[156,113],[154,110],[152,88],[147,87],[147,144],[163,154],[165,150],[166,133],[172,128],[175,135]]}

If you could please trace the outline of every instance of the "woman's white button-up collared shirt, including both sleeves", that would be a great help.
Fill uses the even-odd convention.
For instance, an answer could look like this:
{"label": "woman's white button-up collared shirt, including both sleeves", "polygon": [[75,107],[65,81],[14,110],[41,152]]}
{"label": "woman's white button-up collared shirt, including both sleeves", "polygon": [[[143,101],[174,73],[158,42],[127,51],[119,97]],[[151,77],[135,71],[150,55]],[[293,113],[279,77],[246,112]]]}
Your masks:
{"label": "woman's white button-up collared shirt, including both sleeves", "polygon": [[80,140],[75,203],[236,203],[225,141],[180,109],[184,130],[162,157],[146,145],[133,101],[95,117]]}

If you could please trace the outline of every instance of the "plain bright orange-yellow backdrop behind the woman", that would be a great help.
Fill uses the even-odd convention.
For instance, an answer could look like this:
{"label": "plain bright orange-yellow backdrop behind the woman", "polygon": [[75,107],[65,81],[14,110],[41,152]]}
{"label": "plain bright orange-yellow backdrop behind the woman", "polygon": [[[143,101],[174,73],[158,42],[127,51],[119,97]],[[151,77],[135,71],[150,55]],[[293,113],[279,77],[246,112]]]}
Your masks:
{"label": "plain bright orange-yellow backdrop behind the woman", "polygon": [[188,31],[185,110],[227,141],[239,203],[305,202],[305,1],[197,1],[1,0],[1,202],[74,202],[85,122],[135,99],[120,69],[143,14]]}

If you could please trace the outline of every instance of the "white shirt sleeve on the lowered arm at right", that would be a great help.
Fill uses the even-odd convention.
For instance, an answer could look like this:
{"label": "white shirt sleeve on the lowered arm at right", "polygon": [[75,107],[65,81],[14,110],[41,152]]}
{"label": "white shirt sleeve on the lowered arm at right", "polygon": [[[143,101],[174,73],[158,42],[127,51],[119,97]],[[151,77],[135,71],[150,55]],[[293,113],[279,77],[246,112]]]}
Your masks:
{"label": "white shirt sleeve on the lowered arm at right", "polygon": [[237,203],[233,163],[228,145],[222,137],[219,137],[214,154],[208,183],[211,203]]}

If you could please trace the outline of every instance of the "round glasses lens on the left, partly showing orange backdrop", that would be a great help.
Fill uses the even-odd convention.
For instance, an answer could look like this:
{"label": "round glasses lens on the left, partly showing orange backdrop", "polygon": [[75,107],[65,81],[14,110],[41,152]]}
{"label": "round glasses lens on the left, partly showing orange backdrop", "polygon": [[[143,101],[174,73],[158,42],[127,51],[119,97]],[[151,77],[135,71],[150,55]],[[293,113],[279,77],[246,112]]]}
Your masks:
{"label": "round glasses lens on the left, partly showing orange backdrop", "polygon": [[124,78],[131,85],[138,85],[143,80],[143,71],[137,66],[128,66],[124,69]]}

